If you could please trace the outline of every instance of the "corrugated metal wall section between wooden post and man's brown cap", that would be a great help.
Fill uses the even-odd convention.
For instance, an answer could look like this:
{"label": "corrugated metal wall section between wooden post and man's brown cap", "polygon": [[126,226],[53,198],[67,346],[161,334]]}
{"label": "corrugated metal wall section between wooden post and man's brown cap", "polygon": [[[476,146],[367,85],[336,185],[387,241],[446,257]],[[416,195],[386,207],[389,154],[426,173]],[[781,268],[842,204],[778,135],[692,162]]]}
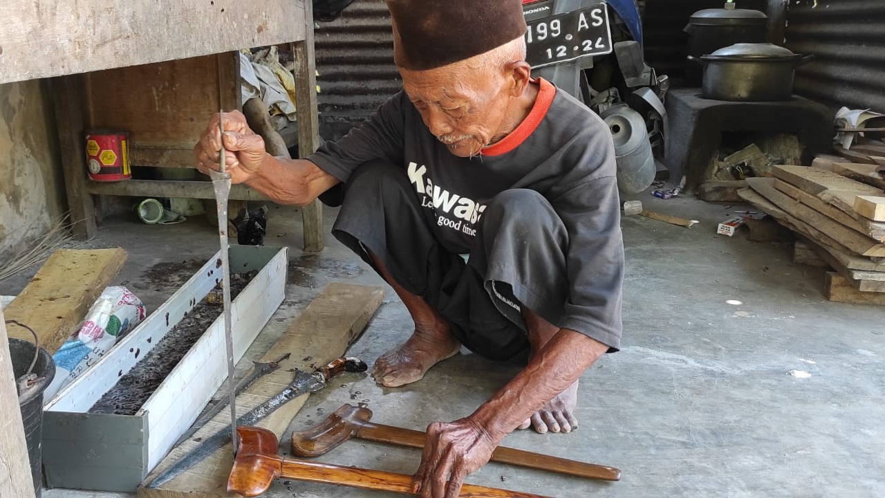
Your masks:
{"label": "corrugated metal wall section between wooden post and man's brown cap", "polygon": [[355,0],[338,19],[319,22],[315,43],[319,133],[335,140],[400,89],[384,0]]}

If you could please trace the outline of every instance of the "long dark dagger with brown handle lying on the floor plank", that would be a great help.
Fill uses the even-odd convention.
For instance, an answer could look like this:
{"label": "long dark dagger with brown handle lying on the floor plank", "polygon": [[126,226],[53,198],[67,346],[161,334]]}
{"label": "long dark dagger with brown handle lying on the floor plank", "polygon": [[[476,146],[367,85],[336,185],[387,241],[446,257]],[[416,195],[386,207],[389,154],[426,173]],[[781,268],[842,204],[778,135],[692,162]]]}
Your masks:
{"label": "long dark dagger with brown handle lying on the floor plank", "polygon": [[[357,358],[339,358],[335,360],[335,362],[329,363],[326,367],[323,367],[312,374],[307,373],[304,370],[296,369],[295,378],[292,379],[292,382],[289,383],[285,389],[280,393],[277,393],[270,400],[255,407],[249,413],[238,418],[235,423],[238,425],[255,425],[260,422],[261,419],[272,414],[273,411],[279,409],[289,401],[296,399],[298,396],[319,391],[326,386],[329,378],[334,377],[343,371],[366,371],[366,363],[359,361]],[[181,475],[181,472],[187,471],[189,468],[196,465],[196,463],[202,462],[207,456],[212,455],[212,453],[218,450],[219,447],[224,447],[224,445],[230,442],[230,440],[231,436],[227,431],[215,432],[212,436],[200,441],[200,444],[191,450],[189,454],[182,456],[177,462],[167,467],[165,471],[161,472],[154,480],[150,481],[150,484],[147,487],[155,488],[163,486],[165,483]]]}

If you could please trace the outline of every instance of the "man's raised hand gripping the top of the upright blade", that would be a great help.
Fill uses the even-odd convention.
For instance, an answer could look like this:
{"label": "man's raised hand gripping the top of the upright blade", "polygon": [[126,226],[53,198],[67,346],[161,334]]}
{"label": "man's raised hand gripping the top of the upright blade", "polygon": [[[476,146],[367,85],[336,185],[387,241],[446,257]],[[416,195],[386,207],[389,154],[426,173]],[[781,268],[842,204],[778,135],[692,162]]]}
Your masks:
{"label": "man's raised hand gripping the top of the upright blade", "polygon": [[246,124],[246,117],[239,111],[224,113],[225,133],[222,138],[219,128],[219,114],[215,113],[206,125],[199,142],[194,146],[196,169],[208,175],[209,170],[219,170],[219,151],[224,140],[225,164],[232,183],[249,181],[258,173],[270,155],[265,150],[265,141]]}

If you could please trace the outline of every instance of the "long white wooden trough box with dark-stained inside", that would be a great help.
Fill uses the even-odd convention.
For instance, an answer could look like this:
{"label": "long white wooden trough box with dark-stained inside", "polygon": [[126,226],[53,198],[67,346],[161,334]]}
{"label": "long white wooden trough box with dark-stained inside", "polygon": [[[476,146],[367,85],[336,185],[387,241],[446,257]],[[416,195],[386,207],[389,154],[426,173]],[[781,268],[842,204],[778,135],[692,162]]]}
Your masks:
{"label": "long white wooden trough box with dark-stained inside", "polygon": [[[135,352],[143,358],[212,290],[221,277],[219,255],[45,404],[42,462],[47,486],[134,492],[224,383],[221,315],[134,416],[87,413],[139,361]],[[231,307],[238,361],[283,300],[288,250],[232,245],[228,256],[231,272],[258,270]]]}

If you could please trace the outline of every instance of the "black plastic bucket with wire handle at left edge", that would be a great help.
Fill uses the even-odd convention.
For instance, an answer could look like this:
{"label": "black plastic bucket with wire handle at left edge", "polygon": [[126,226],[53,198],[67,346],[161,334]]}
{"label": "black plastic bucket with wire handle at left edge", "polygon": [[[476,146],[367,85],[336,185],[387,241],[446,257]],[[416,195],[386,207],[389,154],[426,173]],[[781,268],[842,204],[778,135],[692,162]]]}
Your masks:
{"label": "black plastic bucket with wire handle at left edge", "polygon": [[[15,378],[27,374],[31,363],[34,362],[35,345],[33,342],[19,338],[9,339],[9,353],[12,358],[12,370]],[[19,407],[21,408],[21,421],[25,424],[25,440],[27,441],[27,456],[31,462],[31,477],[34,478],[34,492],[36,498],[40,498],[42,490],[42,471],[40,443],[42,441],[43,428],[43,391],[55,377],[55,362],[52,356],[42,347],[37,354],[37,362],[31,373],[36,374],[39,380],[28,387],[23,393],[19,390]]]}

